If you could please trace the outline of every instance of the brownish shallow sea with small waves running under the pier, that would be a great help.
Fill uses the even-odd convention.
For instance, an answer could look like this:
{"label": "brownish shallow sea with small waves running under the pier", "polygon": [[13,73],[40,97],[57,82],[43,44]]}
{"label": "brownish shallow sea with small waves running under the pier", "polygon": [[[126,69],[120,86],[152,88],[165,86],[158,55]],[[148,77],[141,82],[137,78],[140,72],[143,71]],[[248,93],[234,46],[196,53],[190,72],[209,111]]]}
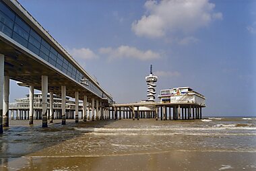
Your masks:
{"label": "brownish shallow sea with small waves running under the pier", "polygon": [[0,170],[256,170],[256,118],[10,120]]}

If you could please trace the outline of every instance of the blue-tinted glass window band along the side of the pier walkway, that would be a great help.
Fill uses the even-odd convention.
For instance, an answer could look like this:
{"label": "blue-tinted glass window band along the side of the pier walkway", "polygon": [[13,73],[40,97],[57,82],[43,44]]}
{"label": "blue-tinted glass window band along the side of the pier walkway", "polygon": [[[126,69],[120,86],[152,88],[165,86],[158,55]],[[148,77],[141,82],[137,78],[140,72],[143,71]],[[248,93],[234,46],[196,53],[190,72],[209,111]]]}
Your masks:
{"label": "blue-tinted glass window band along the side of the pier walkway", "polygon": [[[3,1],[0,0],[0,32],[9,36],[25,48],[31,50],[44,61],[51,63],[54,67],[61,70],[69,77],[81,82],[84,75],[65,57],[57,52],[44,38],[42,38],[35,30],[33,30],[22,18],[12,11]],[[94,85],[90,80],[87,88],[100,97],[104,93]]]}

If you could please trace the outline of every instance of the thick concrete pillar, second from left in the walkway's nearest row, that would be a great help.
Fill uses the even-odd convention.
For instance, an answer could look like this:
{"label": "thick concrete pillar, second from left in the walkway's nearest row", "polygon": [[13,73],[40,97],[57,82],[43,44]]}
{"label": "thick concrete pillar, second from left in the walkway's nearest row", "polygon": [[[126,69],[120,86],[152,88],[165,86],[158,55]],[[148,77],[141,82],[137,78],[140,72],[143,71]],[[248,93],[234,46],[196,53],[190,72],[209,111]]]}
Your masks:
{"label": "thick concrete pillar, second from left in the walkway's nearest row", "polygon": [[47,127],[48,76],[42,75],[42,127]]}

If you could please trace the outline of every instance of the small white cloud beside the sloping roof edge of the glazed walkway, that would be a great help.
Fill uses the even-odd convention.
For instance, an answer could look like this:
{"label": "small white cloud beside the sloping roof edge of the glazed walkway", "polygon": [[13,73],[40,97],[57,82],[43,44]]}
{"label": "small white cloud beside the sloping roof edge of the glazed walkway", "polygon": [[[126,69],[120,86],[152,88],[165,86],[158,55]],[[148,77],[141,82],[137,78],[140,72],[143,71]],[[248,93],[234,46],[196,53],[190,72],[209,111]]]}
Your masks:
{"label": "small white cloud beside the sloping roof edge of the glazed walkway", "polygon": [[75,59],[96,59],[98,55],[96,55],[90,48],[72,48],[70,54]]}

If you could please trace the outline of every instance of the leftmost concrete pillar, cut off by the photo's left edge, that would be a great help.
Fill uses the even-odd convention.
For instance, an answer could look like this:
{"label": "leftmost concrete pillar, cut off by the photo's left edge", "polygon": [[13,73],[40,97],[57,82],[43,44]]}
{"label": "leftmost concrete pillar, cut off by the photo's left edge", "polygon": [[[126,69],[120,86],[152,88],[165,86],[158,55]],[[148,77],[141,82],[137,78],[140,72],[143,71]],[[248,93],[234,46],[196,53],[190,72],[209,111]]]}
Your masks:
{"label": "leftmost concrete pillar, cut off by the photo's left edge", "polygon": [[0,54],[0,134],[3,133],[3,77],[4,77],[5,55]]}

